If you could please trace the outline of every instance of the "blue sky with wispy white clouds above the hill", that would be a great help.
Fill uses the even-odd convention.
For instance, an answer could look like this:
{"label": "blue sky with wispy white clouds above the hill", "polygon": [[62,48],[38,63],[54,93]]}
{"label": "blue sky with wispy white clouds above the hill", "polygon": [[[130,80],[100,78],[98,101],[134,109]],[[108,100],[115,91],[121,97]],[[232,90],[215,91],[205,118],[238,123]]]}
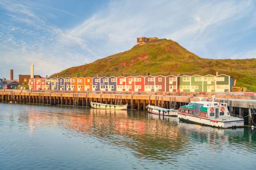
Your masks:
{"label": "blue sky with wispy white clouds above the hill", "polygon": [[256,57],[256,1],[0,0],[0,77],[58,73],[129,50],[137,37],[204,58]]}

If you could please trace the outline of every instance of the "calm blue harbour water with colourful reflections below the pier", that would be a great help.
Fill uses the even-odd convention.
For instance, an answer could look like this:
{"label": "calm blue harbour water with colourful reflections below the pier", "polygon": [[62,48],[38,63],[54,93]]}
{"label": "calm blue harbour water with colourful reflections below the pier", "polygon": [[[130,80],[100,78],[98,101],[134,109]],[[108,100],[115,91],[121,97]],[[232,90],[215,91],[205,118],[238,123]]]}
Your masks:
{"label": "calm blue harbour water with colourful reflections below the pier", "polygon": [[0,169],[256,169],[256,131],[137,111],[0,104]]}

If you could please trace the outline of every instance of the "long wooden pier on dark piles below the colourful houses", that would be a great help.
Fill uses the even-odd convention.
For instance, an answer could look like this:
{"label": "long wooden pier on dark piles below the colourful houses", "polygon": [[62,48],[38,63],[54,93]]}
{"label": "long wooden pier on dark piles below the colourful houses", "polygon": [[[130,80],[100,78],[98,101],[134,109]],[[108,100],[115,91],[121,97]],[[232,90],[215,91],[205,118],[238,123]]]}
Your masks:
{"label": "long wooden pier on dark piles below the colourful houses", "polygon": [[239,93],[156,93],[156,92],[108,92],[108,91],[29,91],[0,90],[0,102],[17,104],[73,105],[89,107],[90,101],[105,104],[128,104],[129,109],[146,109],[146,105],[163,108],[179,108],[190,101],[215,101],[228,104],[231,114],[245,117],[245,124],[253,125],[256,108],[256,95]]}

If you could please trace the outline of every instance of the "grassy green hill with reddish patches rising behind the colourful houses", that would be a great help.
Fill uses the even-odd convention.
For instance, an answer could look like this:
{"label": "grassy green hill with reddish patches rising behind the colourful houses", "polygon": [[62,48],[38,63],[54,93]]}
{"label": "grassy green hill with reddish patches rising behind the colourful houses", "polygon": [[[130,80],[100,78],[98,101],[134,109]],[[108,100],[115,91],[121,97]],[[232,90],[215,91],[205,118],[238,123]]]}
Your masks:
{"label": "grassy green hill with reddish patches rising behind the colourful houses", "polygon": [[237,86],[256,91],[256,58],[207,59],[189,52],[177,42],[160,39],[146,45],[135,45],[126,52],[98,59],[92,63],[71,67],[55,76],[119,76],[174,74],[228,74],[237,79]]}

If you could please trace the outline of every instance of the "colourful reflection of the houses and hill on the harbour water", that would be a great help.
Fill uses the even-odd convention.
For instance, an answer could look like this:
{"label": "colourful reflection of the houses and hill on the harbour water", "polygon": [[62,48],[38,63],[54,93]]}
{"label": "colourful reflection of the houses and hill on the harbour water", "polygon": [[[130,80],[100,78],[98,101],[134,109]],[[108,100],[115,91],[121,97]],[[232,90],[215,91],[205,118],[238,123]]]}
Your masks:
{"label": "colourful reflection of the houses and hill on the harbour water", "polygon": [[159,160],[175,159],[172,154],[184,154],[196,143],[207,143],[212,151],[222,150],[228,144],[256,151],[254,131],[247,128],[217,129],[180,122],[177,117],[136,111],[76,109],[71,113],[70,108],[61,112],[59,109],[45,112],[30,109],[31,133],[36,126],[58,126],[95,135],[110,145],[130,148],[136,156]]}

